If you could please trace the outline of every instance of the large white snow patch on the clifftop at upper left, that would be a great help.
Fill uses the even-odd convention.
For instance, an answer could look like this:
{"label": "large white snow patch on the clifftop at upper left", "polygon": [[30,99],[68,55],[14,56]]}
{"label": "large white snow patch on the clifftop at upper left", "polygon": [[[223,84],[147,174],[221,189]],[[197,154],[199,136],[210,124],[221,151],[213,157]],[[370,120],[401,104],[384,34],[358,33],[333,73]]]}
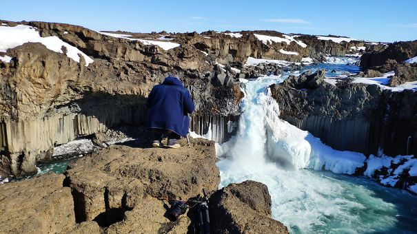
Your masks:
{"label": "large white snow patch on the clifftop at upper left", "polygon": [[[15,27],[0,26],[0,52],[6,52],[6,50],[10,48],[28,42],[42,43],[49,50],[59,53],[63,53],[61,48],[65,46],[67,48],[66,55],[77,63],[80,61],[78,54],[81,54],[81,56],[85,58],[85,66],[94,62],[87,54],[81,52],[77,47],[62,41],[58,36],[41,37],[34,27],[28,25],[17,25]],[[1,60],[8,63],[10,62],[10,56],[3,56],[1,57]]]}

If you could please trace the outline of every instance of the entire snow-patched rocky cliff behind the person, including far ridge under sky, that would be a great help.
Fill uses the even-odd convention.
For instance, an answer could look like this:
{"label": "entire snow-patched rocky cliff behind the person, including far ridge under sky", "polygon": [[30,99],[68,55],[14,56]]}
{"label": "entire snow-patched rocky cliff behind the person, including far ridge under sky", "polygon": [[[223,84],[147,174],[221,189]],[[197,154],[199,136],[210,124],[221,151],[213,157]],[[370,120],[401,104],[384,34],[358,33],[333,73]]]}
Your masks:
{"label": "entire snow-patched rocky cliff behind the person, including far ridge under sky", "polygon": [[[238,78],[256,75],[244,67],[248,57],[300,63],[375,47],[275,31],[99,33],[65,23],[0,23],[31,27],[40,39],[65,43],[54,50],[22,43],[0,52],[10,58],[0,60],[0,171],[13,175],[36,171],[36,162],[50,158],[54,146],[119,125],[143,124],[145,98],[169,73],[179,74],[192,94],[196,111],[190,129],[211,131],[223,142],[240,114]],[[161,44],[167,41],[178,46],[167,49]],[[70,58],[72,47],[85,56],[75,52]]]}

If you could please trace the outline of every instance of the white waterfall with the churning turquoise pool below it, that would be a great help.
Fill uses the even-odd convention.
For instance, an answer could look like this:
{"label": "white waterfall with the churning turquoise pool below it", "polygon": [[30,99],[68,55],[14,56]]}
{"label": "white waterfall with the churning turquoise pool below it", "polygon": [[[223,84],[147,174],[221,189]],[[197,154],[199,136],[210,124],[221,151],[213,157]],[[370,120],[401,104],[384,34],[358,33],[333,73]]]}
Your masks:
{"label": "white waterfall with the churning turquoise pool below it", "polygon": [[361,178],[309,170],[325,168],[352,174],[362,167],[365,156],[336,151],[280,120],[278,104],[267,87],[281,79],[261,77],[245,84],[238,132],[216,149],[221,157],[217,164],[221,187],[245,180],[267,184],[274,219],[292,233],[365,233],[396,228],[403,213],[399,204],[385,197],[400,193],[413,200],[411,195],[395,189],[386,192],[386,188]]}

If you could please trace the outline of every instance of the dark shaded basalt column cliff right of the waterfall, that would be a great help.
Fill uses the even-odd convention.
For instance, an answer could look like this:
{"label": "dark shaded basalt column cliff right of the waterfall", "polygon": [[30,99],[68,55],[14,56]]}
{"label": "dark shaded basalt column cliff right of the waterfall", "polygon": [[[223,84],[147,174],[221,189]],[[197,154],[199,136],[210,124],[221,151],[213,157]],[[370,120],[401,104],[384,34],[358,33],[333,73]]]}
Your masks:
{"label": "dark shaded basalt column cliff right of the waterfall", "polygon": [[396,156],[405,155],[408,145],[408,153],[417,153],[416,92],[326,82],[303,88],[299,85],[305,83],[304,76],[289,77],[271,88],[283,120],[338,150],[376,154],[383,149],[385,154]]}

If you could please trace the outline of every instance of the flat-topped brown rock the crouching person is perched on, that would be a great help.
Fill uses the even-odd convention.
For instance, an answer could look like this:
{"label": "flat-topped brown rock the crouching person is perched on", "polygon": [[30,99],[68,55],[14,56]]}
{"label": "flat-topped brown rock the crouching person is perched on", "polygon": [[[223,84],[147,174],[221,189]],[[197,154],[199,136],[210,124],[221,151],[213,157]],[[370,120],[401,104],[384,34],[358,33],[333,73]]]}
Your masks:
{"label": "flat-topped brown rock the crouching person is perched on", "polygon": [[77,221],[97,220],[109,226],[116,221],[106,220],[116,216],[113,212],[142,207],[144,198],[162,206],[156,199],[187,200],[203,188],[216,190],[220,177],[214,142],[192,143],[190,149],[170,150],[114,146],[70,164],[66,175]]}

